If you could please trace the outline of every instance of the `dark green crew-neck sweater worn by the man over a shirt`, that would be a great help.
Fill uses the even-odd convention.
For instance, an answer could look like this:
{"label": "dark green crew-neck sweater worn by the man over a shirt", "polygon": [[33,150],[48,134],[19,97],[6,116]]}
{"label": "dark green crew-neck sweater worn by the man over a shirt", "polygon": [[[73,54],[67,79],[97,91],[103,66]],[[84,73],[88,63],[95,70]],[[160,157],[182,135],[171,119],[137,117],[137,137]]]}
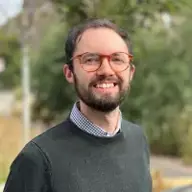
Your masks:
{"label": "dark green crew-neck sweater worn by the man over a shirt", "polygon": [[151,192],[142,129],[127,121],[112,138],[69,119],[30,141],[12,163],[5,192]]}

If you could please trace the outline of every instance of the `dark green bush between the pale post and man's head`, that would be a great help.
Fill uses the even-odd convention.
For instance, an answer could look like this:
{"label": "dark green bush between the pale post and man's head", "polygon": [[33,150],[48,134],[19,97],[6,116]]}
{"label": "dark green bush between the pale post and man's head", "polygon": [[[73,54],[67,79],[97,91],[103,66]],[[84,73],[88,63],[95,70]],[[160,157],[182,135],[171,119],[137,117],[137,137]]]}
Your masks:
{"label": "dark green bush between the pale post and man's head", "polygon": [[33,65],[33,118],[50,123],[58,116],[63,117],[74,101],[74,94],[62,72],[64,29],[54,25],[43,42]]}

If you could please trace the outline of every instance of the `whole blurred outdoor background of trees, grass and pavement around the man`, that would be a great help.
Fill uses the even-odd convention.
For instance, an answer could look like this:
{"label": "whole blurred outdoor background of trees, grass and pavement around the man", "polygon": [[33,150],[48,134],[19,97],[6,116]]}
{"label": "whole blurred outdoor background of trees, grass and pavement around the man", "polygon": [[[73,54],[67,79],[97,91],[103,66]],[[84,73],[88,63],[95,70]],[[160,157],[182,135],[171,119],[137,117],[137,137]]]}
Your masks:
{"label": "whole blurred outdoor background of trees, grass and pavement around the man", "polygon": [[68,115],[76,96],[62,74],[66,34],[95,17],[133,41],[122,111],[145,130],[154,191],[192,184],[191,0],[0,0],[0,183],[22,147]]}

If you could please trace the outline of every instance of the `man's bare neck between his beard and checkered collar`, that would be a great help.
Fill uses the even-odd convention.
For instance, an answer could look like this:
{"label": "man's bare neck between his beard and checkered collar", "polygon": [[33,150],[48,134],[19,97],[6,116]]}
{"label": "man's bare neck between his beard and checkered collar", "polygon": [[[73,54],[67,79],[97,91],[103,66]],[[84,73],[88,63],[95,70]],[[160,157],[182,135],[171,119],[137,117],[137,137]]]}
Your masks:
{"label": "man's bare neck between his beard and checkered collar", "polygon": [[93,124],[101,127],[106,132],[114,133],[116,131],[120,115],[119,107],[109,113],[105,113],[94,110],[80,101],[80,110],[87,119],[89,119]]}

